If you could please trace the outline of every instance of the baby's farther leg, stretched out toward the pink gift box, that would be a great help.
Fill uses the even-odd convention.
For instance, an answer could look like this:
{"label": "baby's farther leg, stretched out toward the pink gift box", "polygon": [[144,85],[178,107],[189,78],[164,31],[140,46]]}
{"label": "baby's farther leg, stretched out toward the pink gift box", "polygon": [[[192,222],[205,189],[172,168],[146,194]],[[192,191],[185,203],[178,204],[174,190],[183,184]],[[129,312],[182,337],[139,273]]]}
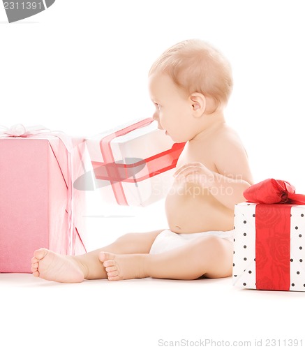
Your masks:
{"label": "baby's farther leg, stretched out toward the pink gift box", "polygon": [[162,230],[145,233],[129,233],[119,237],[114,243],[85,253],[84,255],[59,255],[45,248],[34,252],[31,271],[42,279],[75,283],[84,279],[105,279],[107,273],[103,262],[98,259],[101,251],[110,253],[149,253],[156,236]]}

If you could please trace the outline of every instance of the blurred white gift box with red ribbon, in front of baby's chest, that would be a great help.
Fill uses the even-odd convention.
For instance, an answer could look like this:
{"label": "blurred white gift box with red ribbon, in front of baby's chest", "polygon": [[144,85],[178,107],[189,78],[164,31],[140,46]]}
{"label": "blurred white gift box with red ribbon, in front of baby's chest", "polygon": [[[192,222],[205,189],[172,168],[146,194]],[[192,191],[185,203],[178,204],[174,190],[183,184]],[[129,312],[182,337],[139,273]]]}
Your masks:
{"label": "blurred white gift box with red ribbon, in front of baby's chest", "polygon": [[174,143],[153,119],[141,119],[86,141],[93,171],[75,181],[104,202],[147,206],[164,198],[185,143]]}

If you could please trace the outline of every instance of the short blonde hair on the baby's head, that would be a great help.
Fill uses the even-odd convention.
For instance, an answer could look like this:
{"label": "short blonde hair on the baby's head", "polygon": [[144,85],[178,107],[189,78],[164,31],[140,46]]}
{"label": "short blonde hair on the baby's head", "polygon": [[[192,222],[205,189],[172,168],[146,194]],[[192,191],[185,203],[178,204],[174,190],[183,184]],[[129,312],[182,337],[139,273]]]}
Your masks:
{"label": "short blonde hair on the baby's head", "polygon": [[228,103],[232,91],[230,63],[202,40],[184,40],[161,54],[149,70],[168,74],[188,94],[199,92],[214,98],[218,106]]}

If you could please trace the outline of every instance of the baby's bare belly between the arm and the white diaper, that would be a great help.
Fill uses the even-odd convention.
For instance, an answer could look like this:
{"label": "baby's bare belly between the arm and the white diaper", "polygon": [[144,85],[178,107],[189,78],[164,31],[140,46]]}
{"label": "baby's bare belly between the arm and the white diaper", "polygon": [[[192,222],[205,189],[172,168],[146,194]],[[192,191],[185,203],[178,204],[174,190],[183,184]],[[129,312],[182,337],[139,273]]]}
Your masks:
{"label": "baby's bare belly between the arm and the white diaper", "polygon": [[192,183],[172,186],[165,200],[165,211],[172,232],[226,231],[234,225],[234,211]]}

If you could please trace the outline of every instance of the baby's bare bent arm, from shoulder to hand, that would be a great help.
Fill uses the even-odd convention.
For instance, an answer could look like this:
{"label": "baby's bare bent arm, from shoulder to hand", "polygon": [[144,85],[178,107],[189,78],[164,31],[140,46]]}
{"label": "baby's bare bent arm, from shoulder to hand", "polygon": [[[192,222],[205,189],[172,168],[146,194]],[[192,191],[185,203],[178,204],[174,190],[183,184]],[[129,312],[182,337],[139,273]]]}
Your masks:
{"label": "baby's bare bent arm, from shoulder to hand", "polygon": [[218,140],[211,148],[216,171],[211,171],[202,163],[188,163],[175,173],[175,177],[199,183],[207,188],[221,204],[234,209],[243,202],[244,191],[253,184],[248,156],[239,138],[228,135]]}

